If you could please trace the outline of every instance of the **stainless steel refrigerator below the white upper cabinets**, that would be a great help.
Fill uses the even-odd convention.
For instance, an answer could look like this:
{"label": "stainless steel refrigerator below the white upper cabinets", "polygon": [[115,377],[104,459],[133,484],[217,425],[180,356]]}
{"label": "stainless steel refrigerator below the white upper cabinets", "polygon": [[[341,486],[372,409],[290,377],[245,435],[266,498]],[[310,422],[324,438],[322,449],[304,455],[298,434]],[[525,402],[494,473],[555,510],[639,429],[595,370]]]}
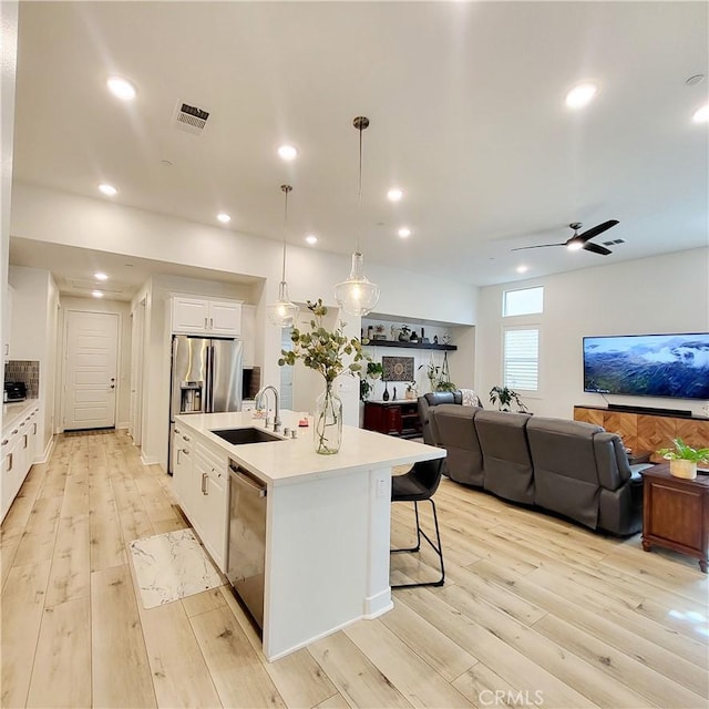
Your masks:
{"label": "stainless steel refrigerator below the white upper cabinets", "polygon": [[176,415],[242,410],[243,342],[173,335],[172,352],[167,455],[171,473]]}

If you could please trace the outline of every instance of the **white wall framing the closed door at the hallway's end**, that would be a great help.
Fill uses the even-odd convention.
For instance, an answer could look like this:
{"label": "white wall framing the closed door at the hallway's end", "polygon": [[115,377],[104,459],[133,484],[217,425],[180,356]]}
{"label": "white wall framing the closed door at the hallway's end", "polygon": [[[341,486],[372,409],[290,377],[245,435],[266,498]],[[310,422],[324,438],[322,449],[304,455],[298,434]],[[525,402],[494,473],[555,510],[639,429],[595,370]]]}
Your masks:
{"label": "white wall framing the closed door at the hallway's end", "polygon": [[[131,404],[131,308],[130,304],[103,298],[75,298],[61,297],[60,328],[66,327],[66,314],[70,310],[83,312],[110,312],[119,316],[119,387],[116,397],[116,429],[126,429],[129,425],[129,410]],[[65,340],[62,339],[62,342]],[[62,352],[63,354],[63,352]],[[63,399],[61,405],[63,405]]]}

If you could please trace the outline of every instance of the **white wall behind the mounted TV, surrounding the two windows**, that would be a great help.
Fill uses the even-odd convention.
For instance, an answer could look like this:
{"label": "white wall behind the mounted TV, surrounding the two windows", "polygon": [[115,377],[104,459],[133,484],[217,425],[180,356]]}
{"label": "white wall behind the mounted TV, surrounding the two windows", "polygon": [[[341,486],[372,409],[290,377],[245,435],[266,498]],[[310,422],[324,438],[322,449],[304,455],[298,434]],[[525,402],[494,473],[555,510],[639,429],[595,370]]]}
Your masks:
{"label": "white wall behind the mounted TV, surrounding the two windows", "polygon": [[[541,326],[541,391],[524,400],[535,413],[572,418],[574,404],[605,405],[599,394],[583,391],[582,338],[709,331],[707,273],[709,248],[701,248],[483,288],[476,328],[477,391],[486,402],[491,387],[502,382],[505,288],[544,286],[542,316],[504,318],[504,325]],[[609,400],[706,415],[703,401],[619,395]]]}

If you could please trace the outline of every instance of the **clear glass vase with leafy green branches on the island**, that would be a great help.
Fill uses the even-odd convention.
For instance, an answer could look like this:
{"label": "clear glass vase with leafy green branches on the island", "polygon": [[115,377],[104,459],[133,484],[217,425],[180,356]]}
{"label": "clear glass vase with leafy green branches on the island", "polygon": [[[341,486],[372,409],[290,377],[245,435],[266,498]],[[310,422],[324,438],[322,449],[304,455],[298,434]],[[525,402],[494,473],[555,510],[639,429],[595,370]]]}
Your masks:
{"label": "clear glass vase with leafy green branches on the island", "polygon": [[[360,361],[369,360],[369,357],[362,352],[359,339],[345,337],[342,321],[331,332],[325,329],[322,319],[328,309],[320,298],[317,302],[308,300],[308,310],[314,316],[310,320],[310,331],[292,329],[292,350],[281,350],[282,357],[278,364],[294,366],[296,360],[300,359],[306,367],[325,377],[325,392],[316,401],[312,433],[316,452],[329,455],[337,453],[342,443],[342,402],[335,392],[333,382],[340,374],[359,372],[362,369]],[[342,362],[346,354],[353,354],[349,364]]]}

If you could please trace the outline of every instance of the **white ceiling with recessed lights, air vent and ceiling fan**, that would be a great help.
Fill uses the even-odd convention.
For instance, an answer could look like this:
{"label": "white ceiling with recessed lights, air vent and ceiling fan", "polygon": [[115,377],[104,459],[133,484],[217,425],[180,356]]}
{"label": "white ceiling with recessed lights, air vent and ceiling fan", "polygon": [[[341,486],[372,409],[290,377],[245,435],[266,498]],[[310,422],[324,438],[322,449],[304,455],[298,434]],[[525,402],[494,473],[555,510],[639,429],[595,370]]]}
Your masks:
{"label": "white ceiling with recessed lights, air vent and ceiling fan", "polygon": [[[476,285],[703,246],[706,2],[22,2],[14,177]],[[138,89],[113,97],[119,73]],[[584,111],[564,104],[598,83]],[[177,102],[209,112],[202,135]],[[363,134],[358,213],[356,115]],[[292,142],[299,158],[276,155]],[[161,161],[169,161],[165,166]],[[405,196],[386,198],[392,185]],[[612,256],[561,243],[620,224]],[[403,240],[400,226],[412,229]],[[56,253],[13,254],[58,277]],[[39,249],[35,249],[39,250]],[[12,263],[12,257],[11,257]],[[158,268],[160,265],[155,265]],[[85,274],[89,277],[90,274]],[[80,277],[80,276],[73,276]]]}

